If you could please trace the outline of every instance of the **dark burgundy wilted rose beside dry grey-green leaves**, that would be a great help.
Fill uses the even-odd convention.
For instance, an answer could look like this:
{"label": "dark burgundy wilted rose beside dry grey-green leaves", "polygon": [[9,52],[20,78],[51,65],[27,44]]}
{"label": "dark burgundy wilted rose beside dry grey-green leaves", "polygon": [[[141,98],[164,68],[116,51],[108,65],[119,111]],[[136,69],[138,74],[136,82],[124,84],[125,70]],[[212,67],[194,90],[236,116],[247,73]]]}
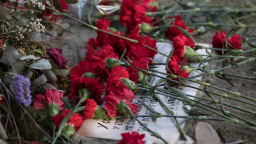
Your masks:
{"label": "dark burgundy wilted rose beside dry grey-green leaves", "polygon": [[51,59],[59,69],[66,69],[68,59],[62,55],[62,50],[60,48],[46,48],[46,55],[49,57],[45,59]]}

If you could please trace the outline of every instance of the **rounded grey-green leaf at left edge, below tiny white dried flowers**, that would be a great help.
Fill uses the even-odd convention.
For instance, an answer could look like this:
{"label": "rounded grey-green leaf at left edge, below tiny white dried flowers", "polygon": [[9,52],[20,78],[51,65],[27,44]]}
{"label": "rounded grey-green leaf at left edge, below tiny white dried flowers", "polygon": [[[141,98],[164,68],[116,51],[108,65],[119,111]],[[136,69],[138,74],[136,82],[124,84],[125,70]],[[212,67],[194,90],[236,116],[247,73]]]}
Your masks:
{"label": "rounded grey-green leaf at left edge, below tiny white dried flowers", "polygon": [[[0,6],[1,7],[1,6]],[[11,66],[14,61],[17,61],[21,58],[21,54],[13,46],[6,47],[0,61],[7,66]]]}

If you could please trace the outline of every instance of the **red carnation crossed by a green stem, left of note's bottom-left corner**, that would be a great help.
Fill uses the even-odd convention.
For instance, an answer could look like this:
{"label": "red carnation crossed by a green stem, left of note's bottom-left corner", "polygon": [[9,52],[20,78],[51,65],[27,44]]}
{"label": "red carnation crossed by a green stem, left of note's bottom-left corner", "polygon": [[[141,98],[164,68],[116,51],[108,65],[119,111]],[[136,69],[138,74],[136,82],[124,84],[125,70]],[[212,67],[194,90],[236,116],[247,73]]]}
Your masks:
{"label": "red carnation crossed by a green stem, left of note's bottom-left corner", "polygon": [[[70,109],[65,109],[61,114],[52,117],[52,121],[55,123],[57,130],[59,129],[62,120],[70,113],[70,111]],[[83,124],[83,118],[82,116],[79,116],[79,114],[74,113],[65,125],[68,124],[70,124],[75,129],[75,131],[77,131]]]}

